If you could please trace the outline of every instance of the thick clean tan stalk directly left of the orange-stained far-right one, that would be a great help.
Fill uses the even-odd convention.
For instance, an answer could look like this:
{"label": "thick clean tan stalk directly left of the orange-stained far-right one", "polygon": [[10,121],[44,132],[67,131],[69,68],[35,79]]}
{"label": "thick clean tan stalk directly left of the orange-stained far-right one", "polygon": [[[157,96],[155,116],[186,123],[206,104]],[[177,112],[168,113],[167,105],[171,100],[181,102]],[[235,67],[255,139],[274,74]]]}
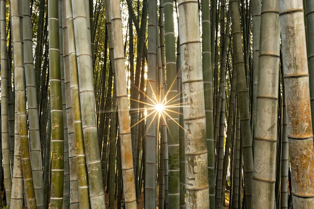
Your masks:
{"label": "thick clean tan stalk directly left of the orange-stained far-right one", "polygon": [[280,51],[278,1],[263,0],[260,24],[252,208],[272,208],[275,202],[277,155]]}

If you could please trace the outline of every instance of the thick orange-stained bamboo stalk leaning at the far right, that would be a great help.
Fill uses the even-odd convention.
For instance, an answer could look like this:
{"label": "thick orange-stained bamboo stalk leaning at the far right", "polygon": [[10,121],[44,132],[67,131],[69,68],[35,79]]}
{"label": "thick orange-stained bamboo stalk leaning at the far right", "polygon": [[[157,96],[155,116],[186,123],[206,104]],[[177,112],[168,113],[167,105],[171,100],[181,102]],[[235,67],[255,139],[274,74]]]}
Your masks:
{"label": "thick orange-stained bamboo stalk leaning at the far right", "polygon": [[293,207],[314,208],[314,148],[303,1],[279,3]]}

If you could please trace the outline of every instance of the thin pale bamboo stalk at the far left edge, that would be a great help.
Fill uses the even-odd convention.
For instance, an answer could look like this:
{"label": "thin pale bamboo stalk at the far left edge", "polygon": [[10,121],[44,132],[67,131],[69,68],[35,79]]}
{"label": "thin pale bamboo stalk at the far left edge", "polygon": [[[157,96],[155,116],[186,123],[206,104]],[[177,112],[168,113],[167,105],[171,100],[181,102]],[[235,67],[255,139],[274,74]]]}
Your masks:
{"label": "thin pale bamboo stalk at the far left edge", "polygon": [[11,203],[11,167],[10,167],[10,139],[9,139],[9,81],[6,33],[6,1],[0,1],[0,55],[1,55],[1,147],[3,154],[4,182],[6,185],[6,201],[8,208]]}

